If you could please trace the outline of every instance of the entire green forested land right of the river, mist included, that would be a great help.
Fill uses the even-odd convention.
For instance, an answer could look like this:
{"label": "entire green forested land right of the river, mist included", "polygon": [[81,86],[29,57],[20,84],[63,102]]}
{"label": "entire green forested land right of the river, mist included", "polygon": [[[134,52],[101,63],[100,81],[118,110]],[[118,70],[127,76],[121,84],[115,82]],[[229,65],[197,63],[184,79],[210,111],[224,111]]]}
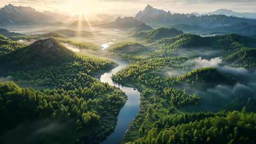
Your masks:
{"label": "entire green forested land right of the river, mist included", "polygon": [[[126,44],[112,46],[135,49]],[[233,111],[255,112],[255,39],[182,34],[146,44],[144,53],[111,51],[130,62],[113,81],[141,90],[140,112],[121,144],[255,143],[255,114]],[[221,109],[231,111],[207,112]]]}

